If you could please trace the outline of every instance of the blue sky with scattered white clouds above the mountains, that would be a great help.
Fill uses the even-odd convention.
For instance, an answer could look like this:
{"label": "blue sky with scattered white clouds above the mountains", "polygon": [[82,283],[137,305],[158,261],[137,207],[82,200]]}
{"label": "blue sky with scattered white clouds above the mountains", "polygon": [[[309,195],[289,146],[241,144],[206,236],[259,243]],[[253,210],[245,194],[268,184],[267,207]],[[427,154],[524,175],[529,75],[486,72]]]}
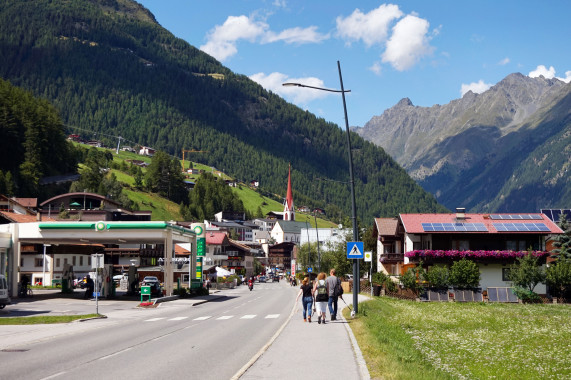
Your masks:
{"label": "blue sky with scattered white clouds above the mountains", "polygon": [[507,75],[571,80],[571,1],[138,0],[176,37],[344,127],[400,99],[430,107]]}

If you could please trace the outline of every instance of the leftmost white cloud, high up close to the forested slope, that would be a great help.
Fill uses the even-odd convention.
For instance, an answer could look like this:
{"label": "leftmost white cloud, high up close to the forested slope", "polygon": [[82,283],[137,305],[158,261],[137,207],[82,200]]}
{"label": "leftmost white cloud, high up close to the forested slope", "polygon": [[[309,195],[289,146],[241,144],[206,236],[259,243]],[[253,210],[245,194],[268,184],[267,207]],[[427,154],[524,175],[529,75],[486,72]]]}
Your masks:
{"label": "leftmost white cloud, high up close to the forested slope", "polygon": [[210,31],[206,44],[202,45],[200,50],[224,61],[238,52],[236,43],[239,40],[253,42],[268,28],[266,23],[254,21],[246,16],[229,16],[224,24],[217,25]]}

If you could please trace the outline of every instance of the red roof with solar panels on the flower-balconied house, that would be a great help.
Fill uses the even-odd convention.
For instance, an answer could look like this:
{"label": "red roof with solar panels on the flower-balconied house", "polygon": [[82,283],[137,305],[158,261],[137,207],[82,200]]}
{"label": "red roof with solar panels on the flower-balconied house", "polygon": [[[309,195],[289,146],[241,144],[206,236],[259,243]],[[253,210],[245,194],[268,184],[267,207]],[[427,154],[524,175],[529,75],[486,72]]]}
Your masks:
{"label": "red roof with solar panels on the flower-balconied house", "polygon": [[[432,234],[432,233],[450,233],[451,231],[430,231],[426,232],[422,227],[422,223],[481,223],[486,227],[486,231],[452,231],[452,233],[476,233],[476,234],[488,234],[488,233],[502,233],[502,234],[561,234],[563,231],[555,223],[553,223],[545,214],[535,213],[535,214],[521,214],[521,213],[509,213],[509,214],[464,214],[464,219],[457,219],[457,214],[400,214],[400,220],[404,226],[406,233],[408,234]],[[521,216],[524,219],[513,219],[510,216]],[[494,217],[494,219],[492,219]],[[534,219],[528,218],[533,217]],[[501,218],[501,219],[499,219]],[[524,223],[543,223],[548,228],[549,231],[498,231],[494,224],[499,223],[513,223],[513,224],[524,224]]]}

